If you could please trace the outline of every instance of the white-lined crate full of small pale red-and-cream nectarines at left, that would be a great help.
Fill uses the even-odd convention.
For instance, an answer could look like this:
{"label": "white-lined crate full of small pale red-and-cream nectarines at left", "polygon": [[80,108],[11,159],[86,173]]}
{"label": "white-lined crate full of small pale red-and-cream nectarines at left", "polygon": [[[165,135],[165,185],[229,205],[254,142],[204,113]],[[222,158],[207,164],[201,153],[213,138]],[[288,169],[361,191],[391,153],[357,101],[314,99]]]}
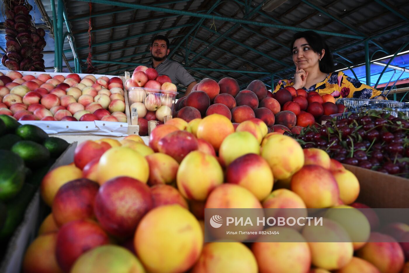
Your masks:
{"label": "white-lined crate full of small pale red-and-cream nectarines at left", "polygon": [[0,113],[48,134],[132,134],[123,78],[0,71]]}

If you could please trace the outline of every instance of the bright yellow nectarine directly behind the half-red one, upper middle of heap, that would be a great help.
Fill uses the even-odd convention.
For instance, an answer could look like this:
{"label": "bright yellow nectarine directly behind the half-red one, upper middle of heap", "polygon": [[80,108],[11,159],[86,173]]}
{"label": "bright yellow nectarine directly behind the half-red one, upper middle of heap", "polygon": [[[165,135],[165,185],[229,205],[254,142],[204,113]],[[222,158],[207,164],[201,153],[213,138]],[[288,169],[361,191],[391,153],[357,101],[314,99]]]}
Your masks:
{"label": "bright yellow nectarine directly behind the half-red one, upper middle of heap", "polygon": [[225,166],[247,153],[260,153],[258,140],[247,131],[228,135],[220,145],[219,156]]}

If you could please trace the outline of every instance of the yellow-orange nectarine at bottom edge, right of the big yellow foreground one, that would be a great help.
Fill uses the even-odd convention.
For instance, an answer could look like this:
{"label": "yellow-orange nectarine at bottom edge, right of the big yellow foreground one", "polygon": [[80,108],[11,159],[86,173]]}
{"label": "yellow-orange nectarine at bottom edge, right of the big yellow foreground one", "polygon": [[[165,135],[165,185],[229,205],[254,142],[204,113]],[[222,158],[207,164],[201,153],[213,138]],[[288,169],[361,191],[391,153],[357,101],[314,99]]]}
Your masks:
{"label": "yellow-orange nectarine at bottom edge, right of the big yellow foreground one", "polygon": [[[215,259],[214,257],[217,257]],[[247,246],[239,242],[212,242],[203,247],[192,273],[248,272],[257,273],[256,259]]]}

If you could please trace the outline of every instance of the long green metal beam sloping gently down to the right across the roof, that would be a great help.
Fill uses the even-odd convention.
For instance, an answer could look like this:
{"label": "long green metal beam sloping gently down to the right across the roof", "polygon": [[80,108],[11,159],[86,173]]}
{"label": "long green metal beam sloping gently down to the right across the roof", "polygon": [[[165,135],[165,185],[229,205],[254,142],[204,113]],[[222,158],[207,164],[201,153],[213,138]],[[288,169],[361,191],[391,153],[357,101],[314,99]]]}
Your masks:
{"label": "long green metal beam sloping gently down to the right across the roof", "polygon": [[214,19],[214,20],[222,20],[222,21],[235,22],[235,23],[240,23],[240,24],[254,24],[257,26],[261,26],[261,27],[274,27],[277,29],[288,29],[288,30],[294,30],[294,31],[314,30],[320,34],[346,37],[346,38],[354,38],[354,39],[365,38],[365,37],[358,36],[358,35],[350,35],[350,34],[330,32],[330,31],[317,31],[315,29],[305,29],[305,28],[299,28],[299,27],[289,27],[289,26],[285,26],[281,24],[269,24],[269,23],[264,23],[264,22],[259,22],[259,21],[250,21],[250,20],[243,20],[243,19],[238,19],[238,18],[214,16],[211,14],[201,14],[201,13],[194,13],[190,11],[181,11],[181,10],[176,10],[176,9],[153,7],[152,5],[133,4],[133,3],[120,2],[120,1],[112,1],[112,0],[79,0],[79,1],[92,2],[92,3],[98,3],[98,4],[107,4],[107,5],[113,5],[113,6],[119,6],[119,7],[130,7],[134,9],[146,9],[146,10],[151,10],[151,11],[166,12],[166,13],[173,13],[173,14],[193,16],[193,17],[199,17],[199,18]]}

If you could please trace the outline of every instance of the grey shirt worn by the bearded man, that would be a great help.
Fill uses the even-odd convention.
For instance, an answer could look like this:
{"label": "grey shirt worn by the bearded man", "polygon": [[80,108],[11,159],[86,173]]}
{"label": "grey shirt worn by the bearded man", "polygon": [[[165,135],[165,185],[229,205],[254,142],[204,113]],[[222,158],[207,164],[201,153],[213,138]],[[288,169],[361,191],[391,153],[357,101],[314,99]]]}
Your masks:
{"label": "grey shirt worn by the bearded man", "polygon": [[171,78],[172,83],[182,84],[184,87],[187,87],[189,84],[195,81],[192,75],[182,67],[178,62],[173,62],[168,59],[165,59],[163,62],[158,64],[157,67],[153,67],[153,63],[146,65],[149,68],[155,68],[159,75],[166,75]]}

